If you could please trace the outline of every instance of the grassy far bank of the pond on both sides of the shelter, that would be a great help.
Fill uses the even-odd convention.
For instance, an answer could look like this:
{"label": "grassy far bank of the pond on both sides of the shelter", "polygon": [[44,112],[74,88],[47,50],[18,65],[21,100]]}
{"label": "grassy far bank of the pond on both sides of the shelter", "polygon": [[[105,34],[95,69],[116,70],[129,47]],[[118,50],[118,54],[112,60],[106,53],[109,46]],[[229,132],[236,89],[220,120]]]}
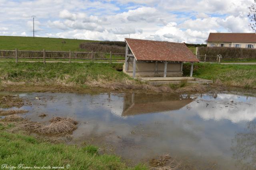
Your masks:
{"label": "grassy far bank of the pond on both sides of the shelter", "polygon": [[[0,62],[0,90],[79,91],[88,89],[151,90],[155,92],[205,92],[203,85],[151,86],[134,80],[119,63],[26,63]],[[190,64],[183,66],[189,76]],[[256,65],[194,64],[194,77],[227,87],[256,88]]]}

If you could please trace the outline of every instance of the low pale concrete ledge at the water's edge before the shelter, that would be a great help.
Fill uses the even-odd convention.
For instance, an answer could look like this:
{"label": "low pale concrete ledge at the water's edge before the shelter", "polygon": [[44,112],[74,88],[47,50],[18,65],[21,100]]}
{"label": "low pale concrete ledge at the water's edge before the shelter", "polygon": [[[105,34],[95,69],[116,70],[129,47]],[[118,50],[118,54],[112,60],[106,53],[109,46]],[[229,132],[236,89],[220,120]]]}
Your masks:
{"label": "low pale concrete ledge at the water's edge before the shelter", "polygon": [[198,84],[206,84],[212,83],[212,80],[206,80],[202,78],[195,77],[137,77],[142,81],[146,81],[151,85],[163,85],[163,84],[178,84],[182,82],[182,80],[187,80],[188,83],[198,83]]}

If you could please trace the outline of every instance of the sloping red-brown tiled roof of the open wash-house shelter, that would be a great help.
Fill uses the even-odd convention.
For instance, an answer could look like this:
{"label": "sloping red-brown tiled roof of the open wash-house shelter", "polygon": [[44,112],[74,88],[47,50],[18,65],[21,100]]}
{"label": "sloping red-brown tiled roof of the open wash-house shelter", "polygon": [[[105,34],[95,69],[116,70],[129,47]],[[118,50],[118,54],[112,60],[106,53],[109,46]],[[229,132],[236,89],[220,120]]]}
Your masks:
{"label": "sloping red-brown tiled roof of the open wash-house shelter", "polygon": [[136,60],[199,62],[185,43],[126,38]]}

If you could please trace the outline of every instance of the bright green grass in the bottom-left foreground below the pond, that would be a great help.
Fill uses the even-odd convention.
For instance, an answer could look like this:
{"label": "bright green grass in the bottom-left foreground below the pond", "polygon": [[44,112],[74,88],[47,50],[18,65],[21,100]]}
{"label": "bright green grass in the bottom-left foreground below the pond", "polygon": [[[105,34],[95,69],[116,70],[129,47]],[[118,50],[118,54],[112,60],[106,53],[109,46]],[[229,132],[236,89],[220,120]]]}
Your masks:
{"label": "bright green grass in the bottom-left foreground below the pond", "polygon": [[[1,129],[2,124],[0,124]],[[138,165],[128,168],[121,158],[115,155],[98,154],[94,146],[78,147],[75,145],[40,142],[34,137],[0,131],[0,165],[18,166],[66,166],[70,170],[145,170]]]}

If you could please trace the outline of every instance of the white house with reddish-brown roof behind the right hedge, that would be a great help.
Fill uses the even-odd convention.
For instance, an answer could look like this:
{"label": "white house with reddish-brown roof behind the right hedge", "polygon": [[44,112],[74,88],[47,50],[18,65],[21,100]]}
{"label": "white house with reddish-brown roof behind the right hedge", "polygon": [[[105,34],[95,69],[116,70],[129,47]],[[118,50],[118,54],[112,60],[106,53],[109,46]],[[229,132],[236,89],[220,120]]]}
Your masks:
{"label": "white house with reddish-brown roof behind the right hedge", "polygon": [[256,48],[256,33],[210,33],[207,47]]}

